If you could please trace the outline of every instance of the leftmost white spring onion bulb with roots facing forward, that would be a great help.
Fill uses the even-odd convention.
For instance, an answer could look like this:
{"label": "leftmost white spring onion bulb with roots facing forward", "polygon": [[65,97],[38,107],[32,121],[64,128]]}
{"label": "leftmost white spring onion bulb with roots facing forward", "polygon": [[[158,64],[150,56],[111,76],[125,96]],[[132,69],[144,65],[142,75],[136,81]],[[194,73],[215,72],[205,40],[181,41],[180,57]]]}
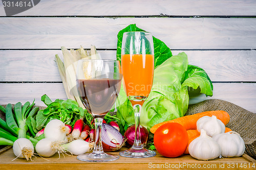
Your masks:
{"label": "leftmost white spring onion bulb with roots facing forward", "polygon": [[13,153],[16,157],[31,160],[34,156],[34,147],[32,142],[27,138],[18,138],[13,143]]}

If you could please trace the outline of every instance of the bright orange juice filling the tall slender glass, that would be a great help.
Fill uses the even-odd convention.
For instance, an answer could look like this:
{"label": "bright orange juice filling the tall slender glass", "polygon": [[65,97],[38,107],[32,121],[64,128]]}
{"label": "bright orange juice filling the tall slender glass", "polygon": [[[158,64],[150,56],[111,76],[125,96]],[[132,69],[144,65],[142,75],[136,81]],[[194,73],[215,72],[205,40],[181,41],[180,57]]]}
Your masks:
{"label": "bright orange juice filling the tall slender glass", "polygon": [[154,74],[154,55],[124,54],[121,57],[123,85],[127,96],[148,96]]}

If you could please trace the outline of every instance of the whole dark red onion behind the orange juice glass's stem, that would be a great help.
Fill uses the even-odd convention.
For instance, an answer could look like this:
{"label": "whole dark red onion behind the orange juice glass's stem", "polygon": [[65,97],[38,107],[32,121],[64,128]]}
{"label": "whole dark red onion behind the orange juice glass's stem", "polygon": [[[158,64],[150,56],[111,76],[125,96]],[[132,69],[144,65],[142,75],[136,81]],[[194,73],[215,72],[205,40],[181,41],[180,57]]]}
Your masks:
{"label": "whole dark red onion behind the orange juice glass's stem", "polygon": [[[139,133],[137,133],[139,135]],[[126,139],[127,147],[131,148],[135,139],[135,125],[130,126],[125,132],[124,137]],[[140,125],[140,140],[141,144],[146,144],[148,139],[148,131],[145,127]]]}

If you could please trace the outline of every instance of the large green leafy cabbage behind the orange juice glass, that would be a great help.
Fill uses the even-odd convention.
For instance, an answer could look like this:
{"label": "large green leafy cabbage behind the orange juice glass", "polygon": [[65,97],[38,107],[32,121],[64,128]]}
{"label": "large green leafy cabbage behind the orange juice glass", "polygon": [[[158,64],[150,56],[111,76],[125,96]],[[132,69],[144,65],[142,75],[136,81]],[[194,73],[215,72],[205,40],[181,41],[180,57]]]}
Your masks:
{"label": "large green leafy cabbage behind the orange juice glass", "polygon": [[[121,58],[122,34],[129,31],[143,31],[130,25],[118,33],[117,60]],[[155,51],[155,71],[150,95],[144,102],[140,123],[150,129],[152,126],[183,116],[188,108],[188,87],[200,89],[206,96],[212,96],[212,82],[206,72],[197,66],[188,65],[187,55],[172,56],[170,49],[153,37]],[[117,99],[117,117],[126,125],[134,124],[134,112],[124,89]]]}

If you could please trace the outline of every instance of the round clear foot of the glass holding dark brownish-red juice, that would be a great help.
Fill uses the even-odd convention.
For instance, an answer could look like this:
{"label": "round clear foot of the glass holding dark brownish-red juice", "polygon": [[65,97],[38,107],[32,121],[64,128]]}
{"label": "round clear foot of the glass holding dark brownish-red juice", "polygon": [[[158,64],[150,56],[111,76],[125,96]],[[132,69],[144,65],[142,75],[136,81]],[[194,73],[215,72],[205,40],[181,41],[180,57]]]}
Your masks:
{"label": "round clear foot of the glass holding dark brownish-red juice", "polygon": [[119,156],[106,154],[106,153],[100,153],[100,154],[88,153],[88,154],[78,155],[76,158],[78,160],[86,161],[86,162],[109,162],[109,161],[117,160]]}

